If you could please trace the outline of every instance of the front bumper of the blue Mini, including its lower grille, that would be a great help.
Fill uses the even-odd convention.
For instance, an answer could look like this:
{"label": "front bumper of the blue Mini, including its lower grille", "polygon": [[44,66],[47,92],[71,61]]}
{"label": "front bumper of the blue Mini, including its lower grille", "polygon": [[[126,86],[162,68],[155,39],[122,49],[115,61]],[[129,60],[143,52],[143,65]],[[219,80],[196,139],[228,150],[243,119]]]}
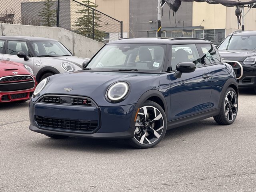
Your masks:
{"label": "front bumper of the blue Mini, including its lower grille", "polygon": [[[86,138],[132,138],[135,130],[135,122],[131,124],[134,113],[135,104],[98,107],[45,104],[30,100],[29,129],[42,134]],[[38,117],[42,120],[38,121]],[[96,126],[90,129],[87,122],[96,122]],[[85,124],[82,129],[81,124]]]}

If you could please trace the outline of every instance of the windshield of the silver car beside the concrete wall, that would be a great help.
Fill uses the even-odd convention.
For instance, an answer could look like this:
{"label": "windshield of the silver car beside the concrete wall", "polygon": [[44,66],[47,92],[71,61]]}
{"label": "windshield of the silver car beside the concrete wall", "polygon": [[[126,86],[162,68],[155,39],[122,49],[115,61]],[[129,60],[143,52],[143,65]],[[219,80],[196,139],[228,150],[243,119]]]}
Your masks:
{"label": "windshield of the silver car beside the concrete wall", "polygon": [[72,56],[58,41],[34,41],[32,47],[37,57]]}

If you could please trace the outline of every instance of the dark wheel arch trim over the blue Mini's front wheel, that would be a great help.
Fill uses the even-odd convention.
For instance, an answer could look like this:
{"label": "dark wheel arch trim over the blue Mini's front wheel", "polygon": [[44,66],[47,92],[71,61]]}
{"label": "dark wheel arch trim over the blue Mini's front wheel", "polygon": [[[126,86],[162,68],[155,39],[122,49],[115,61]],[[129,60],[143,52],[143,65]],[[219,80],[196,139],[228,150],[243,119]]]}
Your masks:
{"label": "dark wheel arch trim over the blue Mini's front wheel", "polygon": [[140,106],[146,101],[148,100],[148,98],[150,97],[158,97],[162,103],[164,104],[164,112],[165,112],[165,115],[166,115],[166,119],[168,121],[168,107],[167,107],[167,104],[166,104],[166,100],[163,96],[163,94],[154,89],[154,90],[148,90],[147,92],[145,92],[144,94],[142,94],[142,96],[140,96],[137,104],[135,105],[135,108],[134,108],[134,112],[132,114],[132,119],[131,119],[131,122],[130,122],[130,127],[135,127],[135,122],[134,122],[134,119],[135,119],[135,116],[136,116],[136,113],[137,113],[137,110],[138,108],[140,108]]}

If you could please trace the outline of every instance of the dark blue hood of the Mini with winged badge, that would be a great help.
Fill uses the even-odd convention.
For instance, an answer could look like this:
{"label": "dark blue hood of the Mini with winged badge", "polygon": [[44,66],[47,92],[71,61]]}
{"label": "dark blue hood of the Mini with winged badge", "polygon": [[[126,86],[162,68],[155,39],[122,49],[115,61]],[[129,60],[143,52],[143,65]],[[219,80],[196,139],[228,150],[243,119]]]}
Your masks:
{"label": "dark blue hood of the Mini with winged badge", "polygon": [[[109,86],[115,82],[126,81],[133,92],[137,90],[136,95],[140,96],[138,90],[142,93],[150,89],[158,89],[159,74],[143,74],[135,72],[73,72],[57,74],[49,77],[50,80],[46,87],[40,93],[42,94],[62,94],[76,95],[93,98],[98,104],[105,99],[106,91]],[[150,84],[148,81],[150,80]],[[68,91],[65,91],[66,88]],[[135,98],[131,98],[135,100]],[[132,101],[133,102],[133,101]]]}

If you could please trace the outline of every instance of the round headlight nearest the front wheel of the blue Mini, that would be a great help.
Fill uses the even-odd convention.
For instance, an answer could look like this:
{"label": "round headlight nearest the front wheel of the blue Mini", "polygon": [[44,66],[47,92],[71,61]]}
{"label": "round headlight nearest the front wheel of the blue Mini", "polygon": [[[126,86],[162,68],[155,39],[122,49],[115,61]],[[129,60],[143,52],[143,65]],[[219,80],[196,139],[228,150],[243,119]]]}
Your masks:
{"label": "round headlight nearest the front wheel of the blue Mini", "polygon": [[129,85],[126,82],[117,82],[107,90],[107,97],[110,101],[120,101],[129,91]]}

